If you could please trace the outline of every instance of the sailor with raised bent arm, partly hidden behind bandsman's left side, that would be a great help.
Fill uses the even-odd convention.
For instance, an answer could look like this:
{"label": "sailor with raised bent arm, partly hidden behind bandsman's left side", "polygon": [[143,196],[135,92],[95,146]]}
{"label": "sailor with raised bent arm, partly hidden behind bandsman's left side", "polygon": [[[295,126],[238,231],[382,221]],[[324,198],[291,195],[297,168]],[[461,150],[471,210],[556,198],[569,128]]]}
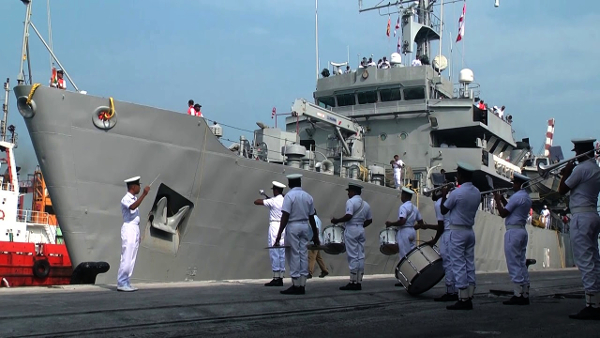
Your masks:
{"label": "sailor with raised bent arm, partly hidden behind bandsman's left side", "polygon": [[[267,245],[273,246],[279,231],[279,223],[281,223],[281,206],[283,205],[283,189],[285,184],[273,181],[273,197],[266,199],[257,199],[255,205],[264,205],[269,208],[269,233],[267,234]],[[284,231],[285,233],[285,231]],[[282,234],[285,236],[285,234]],[[282,241],[280,245],[284,245]],[[271,270],[273,271],[273,280],[266,283],[265,286],[283,286],[283,275],[285,273],[285,249],[270,249],[269,256],[271,258]]]}

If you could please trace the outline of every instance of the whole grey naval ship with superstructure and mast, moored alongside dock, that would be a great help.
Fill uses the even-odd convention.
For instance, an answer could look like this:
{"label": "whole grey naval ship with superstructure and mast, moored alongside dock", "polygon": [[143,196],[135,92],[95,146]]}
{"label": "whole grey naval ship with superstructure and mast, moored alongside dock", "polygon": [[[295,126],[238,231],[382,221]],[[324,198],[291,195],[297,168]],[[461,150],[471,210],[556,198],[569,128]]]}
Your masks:
{"label": "whole grey naval ship with superstructure and mast, moored alongside dock", "polygon": [[[34,27],[31,1],[25,3],[23,55]],[[509,122],[475,104],[480,87],[472,70],[462,69],[455,84],[444,73],[445,57],[429,62],[435,54],[431,42],[441,33],[434,4],[386,5],[401,17],[404,41],[389,68],[342,73],[339,67],[346,64],[331,63],[333,74],[323,72],[312,99],[294,102],[285,128],[259,124],[252,140],[242,136],[230,146],[221,142],[223,128],[214,121],[79,92],[66,71],[75,91],[26,81],[22,63],[14,88],[18,110],[73,266],[95,276],[95,263],[105,262],[110,269],[92,280],[116,280],[123,180],[140,175],[142,184],[156,182],[139,209],[134,280],[269,277],[268,212],[252,202],[271,181],[302,174],[324,228],[329,216],[343,213],[348,183],[364,186],[362,196],[373,214],[366,229],[365,272],[392,274],[399,258],[380,252],[379,232],[386,220],[397,219],[401,204],[389,175],[394,155],[406,163],[404,184],[417,192],[413,203],[433,224],[433,201],[424,192],[440,170],[451,179],[457,161],[467,162],[477,169],[481,191],[510,187],[530,148],[527,139],[514,139]],[[411,54],[420,56],[421,66],[403,64],[402,55]],[[503,220],[482,204],[475,225],[477,271],[506,271],[504,231]],[[530,226],[528,231],[527,256],[539,262],[531,269],[572,266],[562,234]],[[433,232],[421,230],[418,237],[426,241]],[[326,261],[331,274],[348,273],[344,254],[328,255]]]}

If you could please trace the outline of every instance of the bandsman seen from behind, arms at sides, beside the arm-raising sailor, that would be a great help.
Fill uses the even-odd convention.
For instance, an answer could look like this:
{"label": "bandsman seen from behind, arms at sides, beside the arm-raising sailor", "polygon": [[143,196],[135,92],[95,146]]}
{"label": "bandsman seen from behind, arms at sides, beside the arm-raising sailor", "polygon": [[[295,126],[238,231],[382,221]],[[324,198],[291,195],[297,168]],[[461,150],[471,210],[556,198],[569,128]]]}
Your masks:
{"label": "bandsman seen from behind, arms at sides, beside the arm-raising sailor", "polygon": [[[306,278],[308,276],[308,248],[310,229],[312,229],[313,243],[320,245],[319,231],[315,223],[315,206],[313,198],[302,190],[301,174],[288,175],[290,191],[283,199],[281,207],[281,222],[275,246],[280,245],[281,235],[285,230],[285,258],[290,267],[292,286],[281,291],[282,294],[303,295],[305,293]],[[310,228],[309,228],[310,224]],[[287,227],[287,230],[286,230]]]}

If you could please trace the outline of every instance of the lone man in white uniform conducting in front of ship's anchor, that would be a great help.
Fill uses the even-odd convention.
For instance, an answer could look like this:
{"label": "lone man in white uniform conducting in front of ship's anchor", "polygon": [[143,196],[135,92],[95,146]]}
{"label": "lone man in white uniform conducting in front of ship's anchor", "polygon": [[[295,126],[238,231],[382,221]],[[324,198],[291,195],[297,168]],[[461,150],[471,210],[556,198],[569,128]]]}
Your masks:
{"label": "lone man in white uniform conducting in front of ship's anchor", "polygon": [[140,246],[140,212],[138,207],[148,195],[150,187],[144,187],[144,191],[138,199],[136,195],[140,193],[140,177],[128,178],[125,183],[127,183],[127,194],[121,199],[123,225],[121,226],[121,262],[117,273],[117,290],[131,292],[137,290],[137,288],[131,286],[129,278],[133,274],[135,258]]}

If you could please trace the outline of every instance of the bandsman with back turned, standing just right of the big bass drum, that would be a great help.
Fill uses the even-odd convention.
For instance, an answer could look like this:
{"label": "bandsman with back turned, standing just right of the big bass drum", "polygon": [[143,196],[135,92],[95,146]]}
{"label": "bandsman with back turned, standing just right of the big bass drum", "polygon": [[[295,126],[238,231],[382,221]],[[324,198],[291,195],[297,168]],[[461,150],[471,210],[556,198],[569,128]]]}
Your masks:
{"label": "bandsman with back turned, standing just right of the big bass drum", "polygon": [[[448,310],[472,310],[471,299],[475,293],[475,215],[481,203],[481,193],[473,183],[475,169],[467,163],[458,162],[456,176],[459,187],[447,195],[442,189],[442,214],[450,213],[449,256],[452,261],[454,281],[458,288],[458,302],[446,307]],[[448,196],[448,197],[446,197]]]}

